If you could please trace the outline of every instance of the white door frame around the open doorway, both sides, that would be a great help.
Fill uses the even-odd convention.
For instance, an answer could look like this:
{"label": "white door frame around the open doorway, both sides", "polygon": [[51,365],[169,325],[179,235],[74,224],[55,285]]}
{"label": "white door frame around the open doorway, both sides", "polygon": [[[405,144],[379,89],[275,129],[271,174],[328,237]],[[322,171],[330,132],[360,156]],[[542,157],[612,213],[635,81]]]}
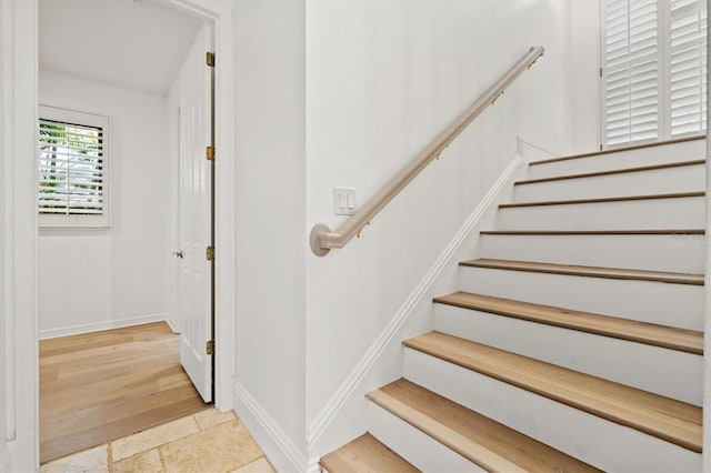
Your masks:
{"label": "white door frame around the open doorway, both sides", "polygon": [[[216,406],[232,410],[234,380],[234,33],[233,4],[220,0],[159,0],[214,26],[216,68]],[[0,0],[3,11],[2,199],[7,263],[2,290],[0,366],[8,419],[0,424],[0,470],[39,467],[37,269],[38,1]],[[6,17],[7,14],[7,17]],[[224,158],[222,158],[224,157]],[[2,399],[0,397],[0,399]]]}

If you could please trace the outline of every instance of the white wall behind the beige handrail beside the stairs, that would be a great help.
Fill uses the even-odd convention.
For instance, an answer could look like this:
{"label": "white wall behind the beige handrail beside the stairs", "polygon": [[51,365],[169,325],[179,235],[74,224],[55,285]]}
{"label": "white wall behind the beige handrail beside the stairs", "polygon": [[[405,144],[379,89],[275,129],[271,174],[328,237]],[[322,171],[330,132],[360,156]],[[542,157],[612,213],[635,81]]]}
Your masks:
{"label": "white wall behind the beige handrail beside the stairs", "polygon": [[[545,48],[531,71],[375,217],[360,239],[324,258],[308,254],[311,455],[364,429],[359,406],[377,383],[354,389],[350,399],[356,401],[333,417],[338,427],[323,429],[326,411],[333,409],[347,376],[513,160],[517,135],[561,152],[574,149],[570,3],[307,3],[309,229],[318,222],[333,229],[343,221],[332,215],[333,185],[357,188],[359,202],[365,201],[531,46]],[[405,324],[403,333],[428,328],[421,313],[412,318],[415,322],[409,330]],[[375,365],[378,382],[400,373],[400,352],[387,353]]]}

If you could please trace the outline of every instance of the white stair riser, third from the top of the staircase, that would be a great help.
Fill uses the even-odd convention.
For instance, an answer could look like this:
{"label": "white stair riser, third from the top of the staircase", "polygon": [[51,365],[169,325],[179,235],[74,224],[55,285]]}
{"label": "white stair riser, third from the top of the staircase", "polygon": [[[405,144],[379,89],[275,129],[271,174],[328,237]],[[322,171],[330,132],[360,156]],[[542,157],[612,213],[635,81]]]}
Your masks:
{"label": "white stair riser, third from the top of the staircase", "polygon": [[703,229],[705,199],[652,199],[567,205],[503,208],[497,230]]}

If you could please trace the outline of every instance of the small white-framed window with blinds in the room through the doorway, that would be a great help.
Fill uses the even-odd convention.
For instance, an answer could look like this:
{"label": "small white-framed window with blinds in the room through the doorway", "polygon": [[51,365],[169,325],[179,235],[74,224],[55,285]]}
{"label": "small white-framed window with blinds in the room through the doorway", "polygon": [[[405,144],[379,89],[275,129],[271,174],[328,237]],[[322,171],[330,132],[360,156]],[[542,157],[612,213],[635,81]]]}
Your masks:
{"label": "small white-framed window with blinds in the room through the doorway", "polygon": [[52,107],[39,115],[40,227],[109,227],[109,119]]}

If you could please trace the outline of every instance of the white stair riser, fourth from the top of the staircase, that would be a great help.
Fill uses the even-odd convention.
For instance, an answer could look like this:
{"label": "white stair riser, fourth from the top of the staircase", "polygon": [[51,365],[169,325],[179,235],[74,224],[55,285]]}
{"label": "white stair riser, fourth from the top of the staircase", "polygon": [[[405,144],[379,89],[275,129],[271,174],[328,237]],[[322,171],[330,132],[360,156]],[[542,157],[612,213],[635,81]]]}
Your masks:
{"label": "white stair riser, fourth from the top of the staircase", "polygon": [[481,258],[701,274],[705,235],[481,235]]}

